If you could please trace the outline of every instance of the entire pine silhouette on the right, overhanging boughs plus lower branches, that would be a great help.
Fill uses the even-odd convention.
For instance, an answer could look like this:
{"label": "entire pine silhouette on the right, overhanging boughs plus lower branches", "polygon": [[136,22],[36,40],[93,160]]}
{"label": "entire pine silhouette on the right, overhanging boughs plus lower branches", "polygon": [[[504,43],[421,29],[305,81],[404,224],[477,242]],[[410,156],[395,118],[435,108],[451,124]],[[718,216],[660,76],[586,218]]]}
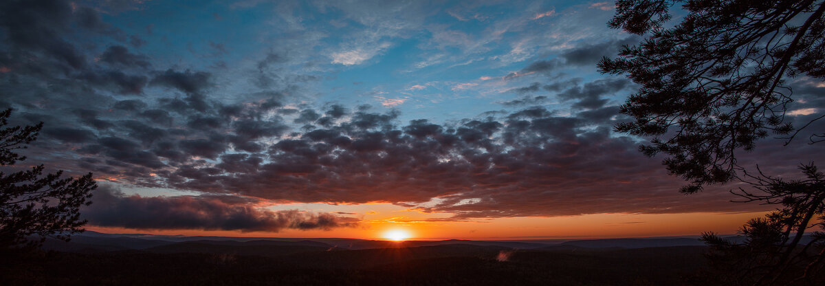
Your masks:
{"label": "entire pine silhouette on the right, overhanging boughs plus lower branches", "polygon": [[[641,86],[621,107],[635,120],[615,130],[652,137],[640,151],[665,154],[667,170],[690,181],[683,193],[736,180],[751,186],[732,190],[742,201],[780,206],[742,227],[742,245],[705,233],[714,262],[749,261],[732,269],[738,274],[728,276],[727,284],[804,284],[818,273],[822,279],[825,236],[817,232],[813,241],[800,243],[808,229],[823,227],[823,174],[811,162],[800,166],[804,179],[784,181],[758,167],[748,171],[736,154],[752,151],[771,133],[788,144],[825,117],[796,127],[785,120],[793,100],[785,79],[825,80],[825,3],[686,1],[688,15],[665,28],[676,2],[682,1],[616,2],[608,25],[649,35],[640,45],[625,46],[617,59],[599,63],[602,73],[626,74]],[[813,132],[809,140],[823,141],[825,134]]]}

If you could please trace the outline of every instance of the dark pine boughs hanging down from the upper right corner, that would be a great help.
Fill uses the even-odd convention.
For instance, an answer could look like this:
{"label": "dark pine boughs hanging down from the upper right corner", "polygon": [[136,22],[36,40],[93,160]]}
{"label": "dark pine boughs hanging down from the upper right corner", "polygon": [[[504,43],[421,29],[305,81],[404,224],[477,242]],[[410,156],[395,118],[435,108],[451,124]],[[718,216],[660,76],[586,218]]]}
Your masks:
{"label": "dark pine boughs hanging down from the upper right corner", "polygon": [[676,2],[616,2],[610,26],[650,35],[617,59],[602,59],[599,68],[626,74],[640,86],[621,108],[635,120],[616,130],[652,136],[641,151],[665,154],[667,170],[691,181],[682,191],[695,193],[702,185],[741,178],[738,149],[751,151],[771,133],[793,135],[785,119],[793,100],[786,78],[825,80],[825,4],[687,1],[689,14],[663,29]]}

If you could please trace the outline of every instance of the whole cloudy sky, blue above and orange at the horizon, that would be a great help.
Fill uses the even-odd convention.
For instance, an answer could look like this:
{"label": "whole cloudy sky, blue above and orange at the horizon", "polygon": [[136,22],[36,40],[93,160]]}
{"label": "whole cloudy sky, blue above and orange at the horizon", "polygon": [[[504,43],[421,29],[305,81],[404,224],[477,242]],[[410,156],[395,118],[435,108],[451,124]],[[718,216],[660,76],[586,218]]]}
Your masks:
{"label": "whole cloudy sky, blue above and orange at the horizon", "polygon": [[[596,63],[643,38],[597,1],[4,1],[0,107],[45,127],[12,168],[99,187],[87,229],[414,239],[733,233],[773,209],[681,195],[638,86]],[[675,19],[679,18],[676,12]],[[825,83],[790,79],[787,120]],[[823,157],[769,138],[740,162]],[[777,151],[778,150],[778,151]]]}

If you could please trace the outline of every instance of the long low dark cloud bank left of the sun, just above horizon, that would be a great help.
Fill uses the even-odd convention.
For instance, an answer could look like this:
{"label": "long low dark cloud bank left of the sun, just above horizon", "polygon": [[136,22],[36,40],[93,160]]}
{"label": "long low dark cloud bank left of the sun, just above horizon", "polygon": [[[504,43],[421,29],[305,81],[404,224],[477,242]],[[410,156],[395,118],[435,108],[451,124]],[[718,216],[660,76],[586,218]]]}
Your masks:
{"label": "long low dark cloud bank left of the sun, just above horizon", "polygon": [[356,218],[332,213],[258,209],[252,204],[254,201],[229,195],[126,196],[101,185],[92,201],[91,206],[82,209],[82,217],[89,224],[103,227],[279,232],[285,228],[329,230],[355,227],[358,223]]}

